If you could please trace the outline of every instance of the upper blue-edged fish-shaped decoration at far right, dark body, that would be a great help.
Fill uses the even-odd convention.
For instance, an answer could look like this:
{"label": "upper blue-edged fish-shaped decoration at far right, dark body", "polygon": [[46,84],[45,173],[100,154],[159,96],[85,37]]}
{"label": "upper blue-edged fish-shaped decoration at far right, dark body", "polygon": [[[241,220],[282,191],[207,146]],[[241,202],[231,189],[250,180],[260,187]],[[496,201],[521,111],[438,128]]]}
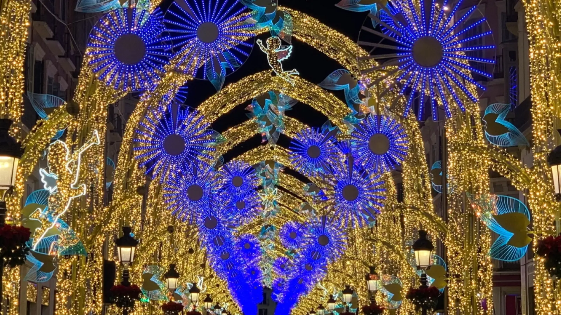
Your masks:
{"label": "upper blue-edged fish-shaped decoration at far right, dark body", "polygon": [[496,146],[530,146],[522,132],[507,121],[509,110],[511,110],[511,104],[495,103],[487,106],[485,114],[481,118],[485,129],[485,137]]}

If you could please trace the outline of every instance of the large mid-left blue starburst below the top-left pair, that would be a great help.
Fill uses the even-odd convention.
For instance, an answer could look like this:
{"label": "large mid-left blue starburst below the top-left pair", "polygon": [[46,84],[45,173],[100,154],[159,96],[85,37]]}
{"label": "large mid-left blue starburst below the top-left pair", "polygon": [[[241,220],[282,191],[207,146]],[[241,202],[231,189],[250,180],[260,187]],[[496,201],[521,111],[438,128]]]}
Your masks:
{"label": "large mid-left blue starburst below the top-left pair", "polygon": [[134,139],[136,159],[146,174],[162,181],[172,170],[186,169],[189,164],[210,165],[214,146],[222,141],[203,115],[172,104],[150,110],[140,126]]}

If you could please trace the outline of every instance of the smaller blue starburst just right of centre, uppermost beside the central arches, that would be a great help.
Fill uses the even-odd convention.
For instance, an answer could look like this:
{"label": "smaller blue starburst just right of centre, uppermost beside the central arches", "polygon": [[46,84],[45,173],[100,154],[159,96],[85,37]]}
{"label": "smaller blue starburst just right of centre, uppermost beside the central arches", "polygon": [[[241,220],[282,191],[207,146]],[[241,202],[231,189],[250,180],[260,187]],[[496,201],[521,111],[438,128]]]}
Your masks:
{"label": "smaller blue starburst just right of centre, uppermost beside the central arches", "polygon": [[338,154],[334,135],[327,128],[307,128],[298,132],[290,144],[290,160],[294,168],[307,176],[328,173]]}

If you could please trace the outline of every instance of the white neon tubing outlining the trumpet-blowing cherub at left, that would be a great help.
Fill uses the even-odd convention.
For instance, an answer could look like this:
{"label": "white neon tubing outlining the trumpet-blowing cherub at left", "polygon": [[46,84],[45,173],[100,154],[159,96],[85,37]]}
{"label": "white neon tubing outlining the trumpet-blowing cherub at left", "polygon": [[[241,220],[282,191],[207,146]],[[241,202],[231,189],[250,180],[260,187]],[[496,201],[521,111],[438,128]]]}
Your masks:
{"label": "white neon tubing outlining the trumpet-blowing cherub at left", "polygon": [[[72,169],[70,168],[70,164],[73,163],[75,160],[74,160],[74,159],[71,159],[70,149],[68,149],[68,146],[66,145],[65,142],[62,142],[62,141],[60,141],[60,140],[57,140],[57,141],[55,141],[55,142],[53,142],[53,143],[56,143],[56,142],[62,143],[62,145],[65,147],[65,150],[66,150],[66,160],[67,160],[67,162],[66,162],[66,170],[68,171],[68,173],[73,174]],[[73,201],[75,198],[82,197],[82,196],[84,196],[84,195],[86,194],[86,185],[85,185],[85,184],[79,184],[79,185],[77,185],[77,184],[78,184],[78,180],[79,180],[79,178],[80,178],[80,167],[81,167],[81,162],[82,162],[82,154],[83,154],[86,150],[88,150],[91,146],[93,146],[93,145],[99,145],[99,143],[100,143],[100,141],[99,141],[99,133],[98,133],[97,130],[94,130],[94,131],[93,131],[93,135],[91,136],[90,140],[88,140],[88,142],[86,142],[85,145],[83,145],[83,146],[80,148],[80,150],[78,150],[78,152],[77,152],[77,163],[76,163],[76,174],[75,174],[75,176],[74,176],[74,182],[72,182],[72,183],[70,184],[70,188],[72,188],[72,189],[81,189],[81,191],[80,191],[79,194],[77,194],[76,196],[72,196],[72,197],[69,197],[69,198],[68,198],[68,201],[66,202],[66,206],[65,206],[64,210],[61,211],[56,217],[54,217],[53,223],[49,226],[49,228],[45,229],[45,230],[43,231],[43,235],[41,235],[41,237],[39,237],[38,239],[35,240],[35,244],[33,245],[33,249],[34,249],[34,250],[36,249],[36,247],[37,247],[37,245],[39,244],[40,240],[42,240],[42,239],[45,237],[45,234],[47,234],[47,231],[50,230],[50,229],[52,229],[52,228],[54,228],[55,225],[57,224],[58,219],[60,219],[60,217],[61,217],[63,214],[66,213],[66,211],[68,210],[68,208],[70,208],[70,205],[72,204],[72,201]],[[40,171],[40,170],[39,170],[39,171]],[[43,170],[43,172],[46,173],[44,170]],[[53,173],[49,173],[49,174],[51,175],[51,177],[52,177],[52,175],[57,176],[56,174],[53,174]],[[57,176],[57,179],[58,179],[58,176]],[[41,181],[43,182],[43,179],[42,179]],[[43,182],[43,183],[45,183],[45,182]],[[77,186],[76,186],[76,185],[77,185]],[[48,189],[48,188],[46,188],[46,187],[45,187],[45,189],[47,189],[47,190],[50,191],[50,189]],[[58,189],[57,189],[57,188],[55,188],[55,189],[53,189],[53,190],[54,190],[54,193],[57,193],[57,192],[58,192]],[[53,194],[54,194],[54,193],[53,193]]]}

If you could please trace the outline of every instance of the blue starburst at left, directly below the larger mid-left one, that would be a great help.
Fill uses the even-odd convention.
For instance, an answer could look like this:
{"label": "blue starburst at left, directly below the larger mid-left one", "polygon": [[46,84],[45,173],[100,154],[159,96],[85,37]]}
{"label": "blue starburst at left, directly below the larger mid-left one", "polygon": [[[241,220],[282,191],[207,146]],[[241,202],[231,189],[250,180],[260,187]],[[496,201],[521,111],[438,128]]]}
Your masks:
{"label": "blue starburst at left, directly below the larger mid-left one", "polygon": [[172,215],[192,223],[199,212],[221,205],[220,177],[210,166],[191,165],[165,181],[164,202]]}

